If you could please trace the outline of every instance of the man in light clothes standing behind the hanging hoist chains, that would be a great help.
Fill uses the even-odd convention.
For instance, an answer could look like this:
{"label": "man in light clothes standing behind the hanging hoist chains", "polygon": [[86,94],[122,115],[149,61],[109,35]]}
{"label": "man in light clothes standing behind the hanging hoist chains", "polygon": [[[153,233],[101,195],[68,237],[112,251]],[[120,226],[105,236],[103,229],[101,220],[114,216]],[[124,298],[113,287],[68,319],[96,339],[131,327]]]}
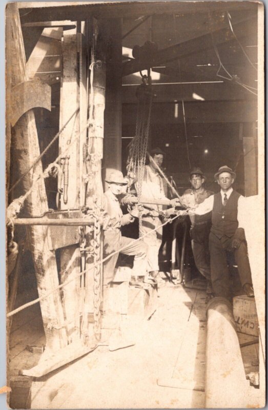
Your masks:
{"label": "man in light clothes standing behind the hanging hoist chains", "polygon": [[[141,196],[152,199],[167,199],[171,206],[175,206],[177,199],[170,200],[164,193],[163,181],[160,176],[157,166],[161,168],[164,159],[164,152],[160,148],[155,148],[150,152],[149,164],[145,166],[145,172],[142,181]],[[156,165],[157,164],[157,165]],[[150,231],[159,227],[162,223],[160,213],[162,212],[162,205],[150,205],[153,211],[142,218],[141,234],[146,235]],[[147,235],[143,241],[148,245],[147,260],[149,282],[157,284],[163,282],[159,276],[158,253],[162,243],[162,227]]]}

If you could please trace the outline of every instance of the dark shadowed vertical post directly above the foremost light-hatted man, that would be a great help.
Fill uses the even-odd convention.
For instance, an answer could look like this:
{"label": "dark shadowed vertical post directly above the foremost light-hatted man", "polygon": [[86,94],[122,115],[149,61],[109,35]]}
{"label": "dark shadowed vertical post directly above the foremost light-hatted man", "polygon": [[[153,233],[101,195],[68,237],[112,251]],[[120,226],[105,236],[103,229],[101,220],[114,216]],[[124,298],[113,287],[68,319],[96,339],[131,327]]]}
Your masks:
{"label": "dark shadowed vertical post directly above the foremost light-hatted man", "polygon": [[[107,61],[104,133],[105,177],[112,169],[121,170],[122,137],[122,30],[121,19],[108,20],[111,47]],[[125,170],[124,170],[125,171]]]}

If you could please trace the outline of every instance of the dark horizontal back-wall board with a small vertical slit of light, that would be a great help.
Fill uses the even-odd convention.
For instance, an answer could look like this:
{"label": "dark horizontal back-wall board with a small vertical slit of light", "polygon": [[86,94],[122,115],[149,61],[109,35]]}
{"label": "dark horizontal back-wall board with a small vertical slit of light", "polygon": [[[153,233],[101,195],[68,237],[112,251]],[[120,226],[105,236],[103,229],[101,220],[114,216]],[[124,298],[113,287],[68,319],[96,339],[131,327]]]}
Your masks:
{"label": "dark horizontal back-wall board with a small vertical slit of light", "polygon": [[[187,101],[185,104],[187,122],[248,122],[256,121],[255,101]],[[122,124],[136,123],[136,105],[124,104]],[[152,108],[151,124],[183,124],[181,104],[155,103]]]}

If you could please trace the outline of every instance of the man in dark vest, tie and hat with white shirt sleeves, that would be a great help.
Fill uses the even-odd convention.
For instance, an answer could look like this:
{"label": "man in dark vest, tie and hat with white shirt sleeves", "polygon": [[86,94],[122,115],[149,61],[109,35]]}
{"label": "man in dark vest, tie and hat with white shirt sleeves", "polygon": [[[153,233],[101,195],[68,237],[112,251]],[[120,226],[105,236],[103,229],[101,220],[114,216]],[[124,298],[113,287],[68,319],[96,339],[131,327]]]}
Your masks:
{"label": "man in dark vest, tie and hat with white shirt sleeves", "polygon": [[232,188],[236,174],[231,168],[220,167],[214,178],[220,186],[220,192],[205,199],[194,211],[196,215],[212,211],[209,248],[213,291],[215,296],[231,300],[226,251],[234,251],[243,291],[249,297],[254,297],[243,229],[244,197]]}

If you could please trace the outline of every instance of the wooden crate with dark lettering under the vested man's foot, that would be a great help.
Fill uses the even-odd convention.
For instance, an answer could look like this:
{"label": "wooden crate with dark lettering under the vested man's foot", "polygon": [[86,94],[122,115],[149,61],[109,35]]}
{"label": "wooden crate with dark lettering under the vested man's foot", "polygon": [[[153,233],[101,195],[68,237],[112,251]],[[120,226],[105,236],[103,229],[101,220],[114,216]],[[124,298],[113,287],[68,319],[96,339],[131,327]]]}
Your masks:
{"label": "wooden crate with dark lettering under the vested man's foot", "polygon": [[259,323],[254,298],[245,295],[234,297],[233,314],[237,332],[259,336]]}

